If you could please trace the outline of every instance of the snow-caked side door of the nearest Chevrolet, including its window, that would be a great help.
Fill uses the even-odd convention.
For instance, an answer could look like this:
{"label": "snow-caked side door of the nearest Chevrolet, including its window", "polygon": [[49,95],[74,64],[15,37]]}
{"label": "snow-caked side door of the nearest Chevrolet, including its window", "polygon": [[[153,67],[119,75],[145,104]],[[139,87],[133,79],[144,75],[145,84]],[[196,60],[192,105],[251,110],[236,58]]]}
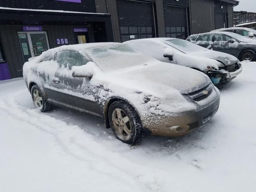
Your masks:
{"label": "snow-caked side door of the nearest Chevrolet, including its window", "polygon": [[90,59],[75,51],[61,51],[55,58],[58,69],[48,88],[50,101],[82,112],[100,116],[100,106],[92,92],[95,86],[89,78],[73,77],[72,66],[86,65]]}

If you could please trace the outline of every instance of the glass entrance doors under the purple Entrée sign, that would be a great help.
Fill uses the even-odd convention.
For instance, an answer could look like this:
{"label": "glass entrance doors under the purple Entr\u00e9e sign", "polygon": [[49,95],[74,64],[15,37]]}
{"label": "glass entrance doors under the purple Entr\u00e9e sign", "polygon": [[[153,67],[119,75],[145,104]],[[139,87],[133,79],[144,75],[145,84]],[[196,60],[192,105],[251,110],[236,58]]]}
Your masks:
{"label": "glass entrance doors under the purple Entr\u00e9e sign", "polygon": [[46,32],[18,32],[18,36],[24,62],[49,49]]}

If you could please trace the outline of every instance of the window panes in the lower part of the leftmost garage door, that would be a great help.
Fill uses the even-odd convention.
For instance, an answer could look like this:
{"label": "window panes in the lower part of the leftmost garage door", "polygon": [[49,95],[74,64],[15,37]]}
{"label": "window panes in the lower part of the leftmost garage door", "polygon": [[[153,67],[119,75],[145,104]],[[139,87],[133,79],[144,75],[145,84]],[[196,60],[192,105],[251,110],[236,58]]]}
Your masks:
{"label": "window panes in the lower part of the leftmost garage door", "polygon": [[122,42],[153,37],[153,30],[151,26],[122,26],[120,27],[120,32]]}

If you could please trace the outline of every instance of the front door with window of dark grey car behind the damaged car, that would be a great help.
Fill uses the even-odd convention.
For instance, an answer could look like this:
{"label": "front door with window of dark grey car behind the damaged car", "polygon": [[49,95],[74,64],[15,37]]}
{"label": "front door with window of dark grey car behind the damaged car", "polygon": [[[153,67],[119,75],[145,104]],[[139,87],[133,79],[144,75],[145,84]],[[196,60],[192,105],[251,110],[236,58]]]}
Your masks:
{"label": "front door with window of dark grey car behind the damaged car", "polygon": [[214,34],[214,51],[224,52],[236,56],[238,42],[228,42],[232,39],[224,34]]}

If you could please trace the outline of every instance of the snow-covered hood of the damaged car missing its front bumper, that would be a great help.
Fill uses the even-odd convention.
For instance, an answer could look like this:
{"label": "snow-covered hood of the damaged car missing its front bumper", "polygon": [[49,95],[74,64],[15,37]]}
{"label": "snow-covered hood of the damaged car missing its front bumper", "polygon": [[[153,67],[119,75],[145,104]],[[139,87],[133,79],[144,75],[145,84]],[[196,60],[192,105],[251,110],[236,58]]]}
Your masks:
{"label": "snow-covered hood of the damaged car missing its front bumper", "polygon": [[[238,59],[230,54],[213,51],[213,50],[193,52],[191,54],[193,54],[194,56],[200,56],[200,57],[217,60],[217,61],[221,62],[222,64],[224,64],[225,66],[232,65],[232,64],[238,62]],[[220,66],[218,66],[218,67],[223,67],[223,66],[221,66],[221,64],[220,64]]]}

